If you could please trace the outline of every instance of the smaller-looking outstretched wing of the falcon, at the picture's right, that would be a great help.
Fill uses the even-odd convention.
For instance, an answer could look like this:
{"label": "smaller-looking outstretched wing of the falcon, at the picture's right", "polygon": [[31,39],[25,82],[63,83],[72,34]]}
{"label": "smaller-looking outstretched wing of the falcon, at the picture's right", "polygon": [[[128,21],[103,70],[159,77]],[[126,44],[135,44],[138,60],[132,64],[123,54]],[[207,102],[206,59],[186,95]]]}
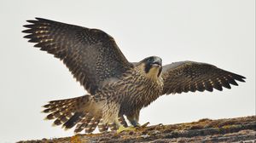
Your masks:
{"label": "smaller-looking outstretched wing of the falcon, at the picture's right", "polygon": [[163,66],[164,89],[162,94],[180,94],[182,92],[231,89],[230,84],[245,82],[241,75],[227,72],[206,63],[194,61],[175,62]]}

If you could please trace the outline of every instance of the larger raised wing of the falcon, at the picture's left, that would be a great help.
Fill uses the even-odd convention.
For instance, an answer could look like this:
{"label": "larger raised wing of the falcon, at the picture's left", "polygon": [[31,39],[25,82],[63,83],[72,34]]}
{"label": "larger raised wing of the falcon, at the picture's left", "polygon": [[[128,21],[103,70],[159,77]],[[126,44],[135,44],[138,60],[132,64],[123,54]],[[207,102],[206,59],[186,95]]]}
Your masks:
{"label": "larger raised wing of the falcon, at the picture's left", "polygon": [[68,25],[53,20],[27,20],[29,42],[63,60],[84,89],[95,94],[109,77],[119,77],[132,65],[125,59],[113,37],[104,31]]}

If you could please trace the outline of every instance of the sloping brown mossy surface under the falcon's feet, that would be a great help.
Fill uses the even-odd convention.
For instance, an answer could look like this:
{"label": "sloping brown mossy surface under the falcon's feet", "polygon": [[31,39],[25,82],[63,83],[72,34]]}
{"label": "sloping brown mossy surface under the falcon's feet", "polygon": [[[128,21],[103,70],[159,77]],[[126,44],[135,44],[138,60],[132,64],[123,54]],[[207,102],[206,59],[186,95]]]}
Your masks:
{"label": "sloping brown mossy surface under the falcon's feet", "polygon": [[239,142],[256,143],[256,116],[229,119],[201,119],[193,123],[154,125],[120,134],[77,134],[59,139],[26,140],[19,143],[86,142]]}

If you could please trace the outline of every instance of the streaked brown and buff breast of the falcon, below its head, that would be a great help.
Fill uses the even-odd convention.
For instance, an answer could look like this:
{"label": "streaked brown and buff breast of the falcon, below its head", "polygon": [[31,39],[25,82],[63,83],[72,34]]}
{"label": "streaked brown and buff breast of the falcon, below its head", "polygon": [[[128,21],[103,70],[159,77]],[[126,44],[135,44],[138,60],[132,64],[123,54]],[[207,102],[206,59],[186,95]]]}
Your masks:
{"label": "streaked brown and buff breast of the falcon, below its head", "polygon": [[[119,115],[131,114],[148,106],[162,92],[163,80],[161,77],[152,79],[140,72],[141,70],[137,70],[137,68],[132,69],[125,73],[119,81],[104,87],[108,90],[116,89],[114,93],[109,94],[108,100],[120,103]],[[101,93],[104,93],[104,90]]]}

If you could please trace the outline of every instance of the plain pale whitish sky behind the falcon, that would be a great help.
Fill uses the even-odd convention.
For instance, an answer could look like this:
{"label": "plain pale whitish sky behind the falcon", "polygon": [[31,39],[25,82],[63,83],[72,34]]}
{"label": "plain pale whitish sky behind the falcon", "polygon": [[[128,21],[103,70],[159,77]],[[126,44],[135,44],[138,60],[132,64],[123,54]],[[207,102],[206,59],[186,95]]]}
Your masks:
{"label": "plain pale whitish sky behind the falcon", "polygon": [[130,61],[194,60],[247,77],[224,91],[164,95],[141,112],[151,125],[255,115],[255,1],[0,0],[0,142],[73,135],[41,113],[47,101],[86,93],[60,60],[23,38],[42,17],[102,29]]}

